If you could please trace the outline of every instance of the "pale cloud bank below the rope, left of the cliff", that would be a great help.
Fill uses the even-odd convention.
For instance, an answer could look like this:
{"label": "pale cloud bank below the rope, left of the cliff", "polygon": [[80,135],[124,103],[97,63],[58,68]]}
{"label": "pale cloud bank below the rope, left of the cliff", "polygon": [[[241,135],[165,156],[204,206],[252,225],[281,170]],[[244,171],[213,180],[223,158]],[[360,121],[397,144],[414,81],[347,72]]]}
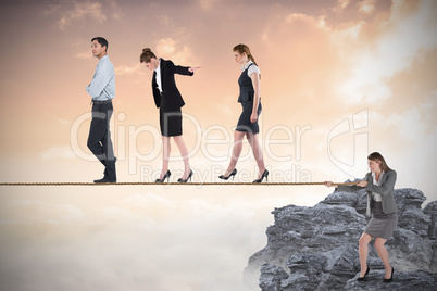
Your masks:
{"label": "pale cloud bank below the rope, left of the cliff", "polygon": [[254,290],[244,288],[242,270],[265,244],[279,195],[254,191],[248,201],[191,193],[83,189],[63,194],[74,204],[47,193],[11,199],[0,205],[2,262],[22,276],[2,283],[16,290],[30,282],[34,290]]}

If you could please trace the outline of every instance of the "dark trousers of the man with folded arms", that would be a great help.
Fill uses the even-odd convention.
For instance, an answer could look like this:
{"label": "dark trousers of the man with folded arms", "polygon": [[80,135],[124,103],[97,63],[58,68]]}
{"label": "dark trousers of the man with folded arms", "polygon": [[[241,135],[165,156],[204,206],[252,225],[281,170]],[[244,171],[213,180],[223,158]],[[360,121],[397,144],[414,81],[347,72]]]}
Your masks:
{"label": "dark trousers of the man with folded arms", "polygon": [[104,179],[116,181],[114,149],[112,147],[110,119],[112,102],[93,102],[92,121],[89,128],[88,149],[105,166]]}

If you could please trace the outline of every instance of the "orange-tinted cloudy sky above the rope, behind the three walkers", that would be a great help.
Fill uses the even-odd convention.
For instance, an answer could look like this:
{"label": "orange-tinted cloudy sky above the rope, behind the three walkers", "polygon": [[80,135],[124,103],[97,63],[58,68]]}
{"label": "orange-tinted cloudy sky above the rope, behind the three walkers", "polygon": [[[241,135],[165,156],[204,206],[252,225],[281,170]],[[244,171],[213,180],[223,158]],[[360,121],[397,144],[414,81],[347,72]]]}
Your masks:
{"label": "orange-tinted cloudy sky above the rope, behind the three walkers", "polygon": [[[176,79],[186,101],[184,138],[195,180],[216,181],[227,166],[240,113],[240,69],[232,48],[246,43],[262,73],[260,136],[270,181],[362,178],[366,155],[378,151],[398,172],[397,188],[417,188],[428,201],[437,199],[435,1],[37,2],[1,3],[2,181],[100,178],[102,167],[86,148],[91,107],[85,87],[98,61],[90,40],[103,36],[116,73],[112,135],[118,181],[154,179],[161,166],[151,73],[139,64],[142,48],[176,64],[202,66],[193,77]],[[172,156],[177,154],[173,143]],[[171,162],[174,180],[182,168],[180,161]],[[237,168],[238,180],[257,175],[247,144]],[[124,194],[137,193],[124,189]],[[201,188],[190,199],[198,201],[208,191],[237,207],[234,197],[272,191],[271,204],[257,204],[264,203],[269,224],[274,206],[313,205],[330,191],[279,189],[229,187],[223,193]],[[0,191],[4,201],[16,204],[15,195],[35,199],[32,193],[40,203],[52,202],[50,193],[60,190]],[[91,197],[96,190],[78,191]],[[167,189],[150,191],[159,197]],[[177,191],[190,194],[187,188]],[[67,199],[79,208],[92,203]],[[261,232],[265,226],[263,220]]]}

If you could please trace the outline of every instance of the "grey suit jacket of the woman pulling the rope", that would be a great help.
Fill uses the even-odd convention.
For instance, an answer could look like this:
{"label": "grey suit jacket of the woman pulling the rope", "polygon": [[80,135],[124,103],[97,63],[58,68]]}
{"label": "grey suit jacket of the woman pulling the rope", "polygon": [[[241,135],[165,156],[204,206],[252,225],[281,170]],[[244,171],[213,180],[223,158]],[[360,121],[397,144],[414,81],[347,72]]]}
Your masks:
{"label": "grey suit jacket of the woman pulling the rope", "polygon": [[[371,216],[372,214],[371,210],[372,192],[380,194],[383,199],[383,212],[385,214],[390,214],[398,211],[398,207],[396,206],[395,202],[395,182],[396,182],[395,170],[392,169],[388,170],[383,175],[383,178],[379,182],[380,186],[373,184],[372,173],[367,173],[363,180],[367,181],[367,187],[365,187],[365,189],[367,190],[367,211],[366,211],[367,216]],[[337,187],[338,191],[344,192],[355,192],[363,188],[354,185],[353,186],[339,185]]]}

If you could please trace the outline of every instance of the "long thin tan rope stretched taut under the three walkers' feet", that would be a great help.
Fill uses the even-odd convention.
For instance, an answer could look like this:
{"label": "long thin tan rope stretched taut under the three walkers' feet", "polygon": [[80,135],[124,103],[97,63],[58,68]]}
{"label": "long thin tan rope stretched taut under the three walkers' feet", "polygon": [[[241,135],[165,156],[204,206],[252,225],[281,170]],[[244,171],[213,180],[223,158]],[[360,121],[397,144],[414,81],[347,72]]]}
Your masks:
{"label": "long thin tan rope stretched taut under the three walkers' feet", "polygon": [[[148,186],[148,185],[178,185],[178,186],[309,186],[324,185],[324,182],[0,182],[0,186]],[[333,182],[337,185],[357,185],[357,182]]]}

